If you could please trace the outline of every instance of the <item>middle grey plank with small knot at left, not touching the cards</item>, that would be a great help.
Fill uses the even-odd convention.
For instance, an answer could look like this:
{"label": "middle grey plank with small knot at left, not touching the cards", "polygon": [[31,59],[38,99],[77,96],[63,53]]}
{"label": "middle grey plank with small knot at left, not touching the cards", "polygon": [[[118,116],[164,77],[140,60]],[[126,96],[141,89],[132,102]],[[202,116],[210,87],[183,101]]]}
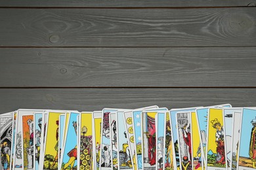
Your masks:
{"label": "middle grey plank with small knot at left, not touching the cards", "polygon": [[0,48],[0,87],[255,86],[256,48]]}

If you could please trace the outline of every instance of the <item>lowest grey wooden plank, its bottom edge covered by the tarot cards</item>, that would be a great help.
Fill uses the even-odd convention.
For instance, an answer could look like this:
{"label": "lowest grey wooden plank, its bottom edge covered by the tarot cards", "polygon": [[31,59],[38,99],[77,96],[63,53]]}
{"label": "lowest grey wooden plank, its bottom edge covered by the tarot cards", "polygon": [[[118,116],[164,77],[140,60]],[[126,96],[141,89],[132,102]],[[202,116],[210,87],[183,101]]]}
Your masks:
{"label": "lowest grey wooden plank, its bottom edge covered by the tarot cards", "polygon": [[148,105],[184,108],[230,103],[251,107],[255,89],[0,89],[0,112],[16,109],[101,110]]}

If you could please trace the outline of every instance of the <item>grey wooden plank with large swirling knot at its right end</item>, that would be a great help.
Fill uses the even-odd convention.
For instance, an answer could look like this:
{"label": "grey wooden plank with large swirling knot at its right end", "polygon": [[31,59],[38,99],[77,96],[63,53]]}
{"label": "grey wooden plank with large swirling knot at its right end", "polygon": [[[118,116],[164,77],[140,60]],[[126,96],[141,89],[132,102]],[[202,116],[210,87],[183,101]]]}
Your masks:
{"label": "grey wooden plank with large swirling knot at its right end", "polygon": [[0,9],[0,46],[256,46],[254,8]]}

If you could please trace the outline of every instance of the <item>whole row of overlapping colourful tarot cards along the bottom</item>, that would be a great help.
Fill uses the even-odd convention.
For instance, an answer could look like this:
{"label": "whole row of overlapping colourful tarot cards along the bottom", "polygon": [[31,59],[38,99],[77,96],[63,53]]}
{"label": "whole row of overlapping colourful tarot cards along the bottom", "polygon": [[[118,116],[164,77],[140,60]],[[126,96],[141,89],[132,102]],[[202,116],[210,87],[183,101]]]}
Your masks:
{"label": "whole row of overlapping colourful tarot cards along the bottom", "polygon": [[1,169],[256,169],[256,108],[19,109],[1,114]]}

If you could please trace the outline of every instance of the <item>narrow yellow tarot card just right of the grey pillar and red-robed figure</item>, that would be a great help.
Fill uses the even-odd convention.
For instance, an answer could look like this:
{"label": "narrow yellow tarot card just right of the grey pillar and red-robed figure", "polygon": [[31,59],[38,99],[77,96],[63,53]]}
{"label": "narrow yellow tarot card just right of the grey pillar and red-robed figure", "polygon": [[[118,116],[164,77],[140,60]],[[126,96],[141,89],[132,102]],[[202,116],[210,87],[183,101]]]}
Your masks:
{"label": "narrow yellow tarot card just right of the grey pillar and red-robed figure", "polygon": [[196,112],[191,112],[191,142],[192,142],[192,167],[194,169],[203,169],[202,144],[200,143],[200,131],[198,131],[198,120]]}

